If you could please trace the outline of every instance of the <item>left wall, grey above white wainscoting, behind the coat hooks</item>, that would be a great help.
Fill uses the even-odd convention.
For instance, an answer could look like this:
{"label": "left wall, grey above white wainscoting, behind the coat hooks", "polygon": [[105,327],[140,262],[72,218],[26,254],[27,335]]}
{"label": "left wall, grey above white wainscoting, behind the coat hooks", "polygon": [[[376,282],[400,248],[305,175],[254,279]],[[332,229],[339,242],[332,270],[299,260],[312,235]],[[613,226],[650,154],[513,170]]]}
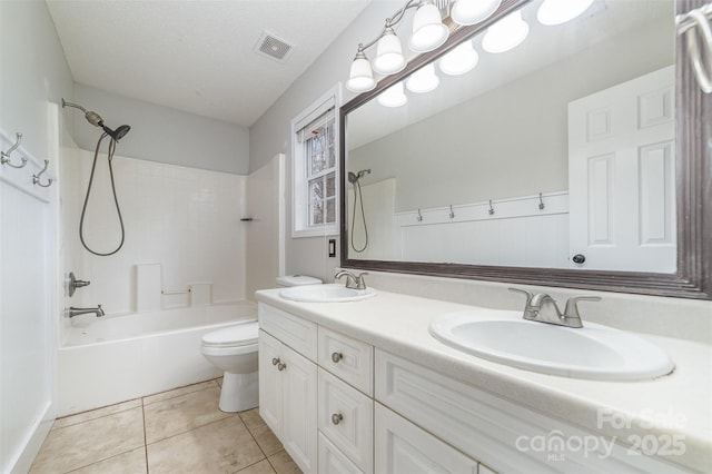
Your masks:
{"label": "left wall, grey above white wainscoting, behind the coat hooks", "polygon": [[[72,78],[43,1],[0,2],[0,128],[23,134],[24,150],[57,169],[57,103],[71,99]],[[53,111],[53,112],[52,112]],[[7,142],[2,141],[3,150]],[[7,168],[6,168],[7,169]],[[30,164],[8,177],[30,179]],[[9,171],[13,171],[9,174]],[[14,172],[17,171],[17,172]],[[17,182],[17,181],[16,181]],[[32,189],[24,184],[20,188]],[[39,204],[4,187],[0,201],[0,471],[23,472],[55,417],[57,204]]]}

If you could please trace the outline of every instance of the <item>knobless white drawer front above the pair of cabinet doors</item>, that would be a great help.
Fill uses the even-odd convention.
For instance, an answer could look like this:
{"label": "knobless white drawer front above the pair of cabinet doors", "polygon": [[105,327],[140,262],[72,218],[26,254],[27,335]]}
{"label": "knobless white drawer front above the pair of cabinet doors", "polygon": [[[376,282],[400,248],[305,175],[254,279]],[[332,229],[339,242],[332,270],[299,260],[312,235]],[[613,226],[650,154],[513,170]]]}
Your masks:
{"label": "knobless white drawer front above the pair of cabinet doors", "polygon": [[273,335],[312,362],[316,362],[316,324],[264,303],[259,303],[257,307],[260,329]]}

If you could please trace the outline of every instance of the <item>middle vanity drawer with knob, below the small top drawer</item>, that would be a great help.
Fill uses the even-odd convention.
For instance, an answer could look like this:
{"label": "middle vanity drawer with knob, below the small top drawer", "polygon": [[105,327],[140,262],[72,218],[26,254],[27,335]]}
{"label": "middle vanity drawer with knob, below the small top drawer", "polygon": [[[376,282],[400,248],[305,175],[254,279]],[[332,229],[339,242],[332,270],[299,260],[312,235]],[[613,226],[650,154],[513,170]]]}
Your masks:
{"label": "middle vanity drawer with knob, below the small top drawer", "polygon": [[319,367],[319,431],[365,473],[373,472],[374,402]]}

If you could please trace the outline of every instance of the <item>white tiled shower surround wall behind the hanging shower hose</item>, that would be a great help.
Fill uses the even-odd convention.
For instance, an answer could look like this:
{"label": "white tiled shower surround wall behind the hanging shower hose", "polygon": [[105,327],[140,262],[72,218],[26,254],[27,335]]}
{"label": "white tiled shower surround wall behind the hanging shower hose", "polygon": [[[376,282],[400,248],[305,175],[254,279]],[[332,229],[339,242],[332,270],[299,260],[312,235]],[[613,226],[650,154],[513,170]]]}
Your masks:
{"label": "white tiled shower surround wall behind the hanging shower hose", "polygon": [[[214,302],[244,299],[246,228],[239,219],[245,213],[247,177],[148,161],[150,157],[126,158],[120,152],[121,144],[113,174],[126,241],[116,255],[97,257],[81,247],[78,230],[93,152],[63,150],[65,268],[91,280],[67,306],[101,304],[107,314],[136,310],[136,266],[141,264],[160,264],[162,290],[211,284]],[[120,239],[105,154],[97,162],[85,239],[99,251],[116,248]]]}

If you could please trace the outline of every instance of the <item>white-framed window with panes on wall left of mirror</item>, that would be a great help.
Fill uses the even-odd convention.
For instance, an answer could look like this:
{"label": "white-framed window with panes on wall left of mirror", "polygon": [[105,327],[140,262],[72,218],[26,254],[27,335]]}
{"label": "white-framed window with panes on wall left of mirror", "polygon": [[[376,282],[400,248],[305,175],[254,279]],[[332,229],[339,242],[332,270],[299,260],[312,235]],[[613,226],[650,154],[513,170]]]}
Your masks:
{"label": "white-framed window with panes on wall left of mirror", "polygon": [[291,121],[293,237],[338,234],[338,86]]}

